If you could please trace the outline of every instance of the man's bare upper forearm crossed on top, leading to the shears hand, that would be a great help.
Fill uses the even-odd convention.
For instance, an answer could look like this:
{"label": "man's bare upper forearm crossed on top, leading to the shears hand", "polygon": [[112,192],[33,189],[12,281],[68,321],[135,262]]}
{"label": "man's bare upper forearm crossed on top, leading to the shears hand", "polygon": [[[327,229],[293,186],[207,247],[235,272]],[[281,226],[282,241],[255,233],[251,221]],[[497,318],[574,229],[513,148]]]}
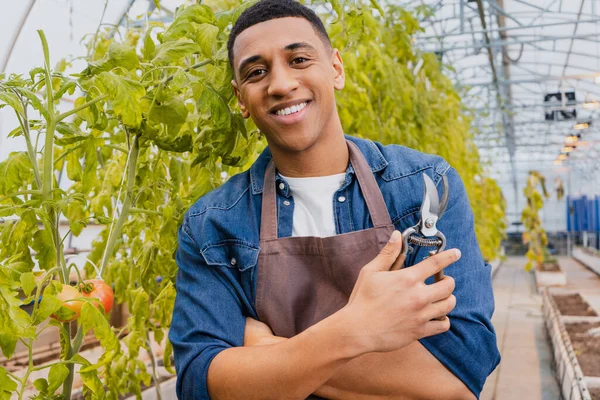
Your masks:
{"label": "man's bare upper forearm crossed on top, leading to the shears hand", "polygon": [[211,399],[305,399],[362,354],[343,335],[342,318],[334,314],[278,344],[222,351],[208,369]]}

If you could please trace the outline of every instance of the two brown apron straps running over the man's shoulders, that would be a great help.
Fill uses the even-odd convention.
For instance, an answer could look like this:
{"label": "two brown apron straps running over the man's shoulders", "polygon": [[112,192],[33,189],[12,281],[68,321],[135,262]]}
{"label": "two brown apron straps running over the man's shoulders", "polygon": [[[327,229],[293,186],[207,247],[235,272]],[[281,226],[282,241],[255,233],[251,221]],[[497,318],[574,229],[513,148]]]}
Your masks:
{"label": "two brown apron straps running over the man's shoulders", "polygon": [[[375,176],[371,172],[367,160],[359,148],[352,142],[346,140],[350,152],[350,162],[354,167],[356,178],[367,203],[373,226],[392,225],[390,214],[383,200],[383,195],[377,185]],[[275,163],[269,162],[265,171],[262,195],[262,213],[260,221],[260,240],[277,239],[277,196],[275,189]]]}

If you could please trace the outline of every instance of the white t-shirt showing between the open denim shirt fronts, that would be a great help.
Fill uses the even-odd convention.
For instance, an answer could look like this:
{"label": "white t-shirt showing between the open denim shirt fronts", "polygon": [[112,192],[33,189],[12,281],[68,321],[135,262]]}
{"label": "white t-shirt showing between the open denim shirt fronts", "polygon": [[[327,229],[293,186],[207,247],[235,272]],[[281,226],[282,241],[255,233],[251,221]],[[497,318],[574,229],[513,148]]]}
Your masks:
{"label": "white t-shirt showing between the open denim shirt fronts", "polygon": [[346,174],[281,177],[288,183],[290,194],[294,197],[292,236],[334,236],[333,195],[343,185]]}

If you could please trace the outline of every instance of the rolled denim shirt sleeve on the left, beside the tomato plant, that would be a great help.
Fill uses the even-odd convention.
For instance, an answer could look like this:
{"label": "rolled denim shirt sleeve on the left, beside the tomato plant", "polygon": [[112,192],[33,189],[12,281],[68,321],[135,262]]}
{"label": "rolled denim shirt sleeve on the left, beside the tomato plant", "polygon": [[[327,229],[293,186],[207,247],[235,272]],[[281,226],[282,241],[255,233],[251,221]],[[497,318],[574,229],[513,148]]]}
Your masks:
{"label": "rolled denim shirt sleeve on the left, beside the tomato plant", "polygon": [[177,398],[209,399],[208,367],[221,351],[244,344],[245,317],[219,266],[207,265],[190,236],[179,228],[177,296],[169,340],[177,370]]}

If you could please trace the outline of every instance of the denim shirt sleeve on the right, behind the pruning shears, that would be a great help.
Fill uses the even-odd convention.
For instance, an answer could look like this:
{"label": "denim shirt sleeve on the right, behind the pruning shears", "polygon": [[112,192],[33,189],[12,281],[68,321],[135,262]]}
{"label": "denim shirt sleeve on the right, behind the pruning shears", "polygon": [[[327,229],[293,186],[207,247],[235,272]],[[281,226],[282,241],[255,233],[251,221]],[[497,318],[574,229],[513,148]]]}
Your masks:
{"label": "denim shirt sleeve on the right, behind the pruning shears", "polygon": [[[449,203],[437,228],[446,236],[446,249],[458,248],[462,253],[460,260],[444,272],[456,281],[456,307],[448,315],[449,331],[420,342],[479,397],[486,378],[500,362],[491,323],[494,312],[491,267],[483,260],[477,243],[473,212],[464,184],[453,168],[448,170],[447,176]],[[426,257],[428,250],[420,248],[413,264]],[[433,278],[426,281],[432,282]]]}

